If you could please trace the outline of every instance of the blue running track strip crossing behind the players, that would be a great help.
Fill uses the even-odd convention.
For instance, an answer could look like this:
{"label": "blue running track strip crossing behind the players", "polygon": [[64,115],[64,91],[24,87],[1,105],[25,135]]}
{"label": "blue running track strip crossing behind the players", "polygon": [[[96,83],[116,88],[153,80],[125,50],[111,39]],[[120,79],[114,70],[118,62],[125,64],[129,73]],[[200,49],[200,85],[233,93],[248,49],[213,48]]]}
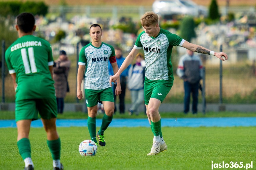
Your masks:
{"label": "blue running track strip crossing behind the players", "polygon": [[[97,127],[101,119],[96,119]],[[256,126],[256,117],[223,118],[162,118],[162,127],[233,127]],[[57,119],[57,127],[86,127],[87,119]],[[15,120],[0,120],[0,128],[16,127]],[[41,120],[32,121],[31,127],[43,127]],[[150,127],[148,119],[113,119],[109,127]]]}

